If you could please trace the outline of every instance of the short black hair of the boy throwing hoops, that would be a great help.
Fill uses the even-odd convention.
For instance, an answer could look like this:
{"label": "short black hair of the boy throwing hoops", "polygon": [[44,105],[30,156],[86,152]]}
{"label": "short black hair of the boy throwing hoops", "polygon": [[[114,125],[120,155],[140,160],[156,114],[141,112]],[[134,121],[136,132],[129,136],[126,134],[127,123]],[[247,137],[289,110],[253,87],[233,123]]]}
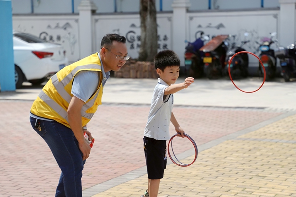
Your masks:
{"label": "short black hair of the boy throwing hoops", "polygon": [[172,50],[160,51],[154,57],[155,69],[159,68],[164,71],[166,67],[180,66],[178,55]]}

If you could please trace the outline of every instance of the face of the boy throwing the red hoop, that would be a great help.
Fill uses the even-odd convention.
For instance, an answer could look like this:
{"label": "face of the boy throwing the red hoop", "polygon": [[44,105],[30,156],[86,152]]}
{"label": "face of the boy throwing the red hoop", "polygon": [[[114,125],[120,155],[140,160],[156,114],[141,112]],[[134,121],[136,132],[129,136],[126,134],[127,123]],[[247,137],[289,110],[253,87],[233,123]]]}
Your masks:
{"label": "face of the boy throwing the red hoop", "polygon": [[159,77],[169,86],[176,82],[179,77],[179,71],[179,66],[166,67],[164,71],[161,71],[159,68],[156,70],[157,74],[159,74]]}

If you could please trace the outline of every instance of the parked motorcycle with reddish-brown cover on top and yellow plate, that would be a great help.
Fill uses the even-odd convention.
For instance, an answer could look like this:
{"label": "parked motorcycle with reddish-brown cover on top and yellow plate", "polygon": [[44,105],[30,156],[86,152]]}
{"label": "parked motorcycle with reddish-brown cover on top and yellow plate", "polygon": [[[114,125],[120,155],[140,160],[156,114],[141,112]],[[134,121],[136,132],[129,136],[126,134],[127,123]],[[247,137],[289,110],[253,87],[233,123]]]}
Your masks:
{"label": "parked motorcycle with reddish-brown cover on top and yellow plate", "polygon": [[209,79],[224,75],[228,35],[218,35],[200,48],[205,53],[203,57],[204,73]]}

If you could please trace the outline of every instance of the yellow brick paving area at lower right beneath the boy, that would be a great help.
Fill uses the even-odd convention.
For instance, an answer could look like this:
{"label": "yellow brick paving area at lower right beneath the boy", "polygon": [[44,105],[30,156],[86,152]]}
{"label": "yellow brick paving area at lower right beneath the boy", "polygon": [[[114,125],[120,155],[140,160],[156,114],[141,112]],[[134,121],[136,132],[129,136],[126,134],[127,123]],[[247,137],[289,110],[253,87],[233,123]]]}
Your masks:
{"label": "yellow brick paving area at lower right beneath the boy", "polygon": [[[201,145],[197,161],[189,167],[169,164],[158,196],[296,197],[296,115],[290,115],[225,136],[222,143],[220,139]],[[190,163],[192,151],[181,162]],[[84,194],[102,191],[92,197],[139,197],[147,188],[145,168],[129,175],[129,181],[119,177]]]}

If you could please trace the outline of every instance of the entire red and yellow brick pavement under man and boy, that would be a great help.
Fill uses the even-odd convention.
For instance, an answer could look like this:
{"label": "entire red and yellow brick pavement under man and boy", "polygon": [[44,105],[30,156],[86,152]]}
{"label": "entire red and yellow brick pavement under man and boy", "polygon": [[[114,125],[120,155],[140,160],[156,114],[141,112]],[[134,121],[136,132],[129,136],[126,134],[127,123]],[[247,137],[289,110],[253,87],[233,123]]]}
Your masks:
{"label": "entire red and yellow brick pavement under man and boy", "polygon": [[[60,169],[29,124],[31,104],[0,100],[0,197],[54,196]],[[88,124],[96,141],[83,170],[83,197],[143,194],[148,110],[146,104],[99,107]],[[159,197],[296,197],[295,110],[175,106],[174,113],[199,155],[186,168],[168,164]],[[185,162],[193,157],[187,142],[174,142]]]}

